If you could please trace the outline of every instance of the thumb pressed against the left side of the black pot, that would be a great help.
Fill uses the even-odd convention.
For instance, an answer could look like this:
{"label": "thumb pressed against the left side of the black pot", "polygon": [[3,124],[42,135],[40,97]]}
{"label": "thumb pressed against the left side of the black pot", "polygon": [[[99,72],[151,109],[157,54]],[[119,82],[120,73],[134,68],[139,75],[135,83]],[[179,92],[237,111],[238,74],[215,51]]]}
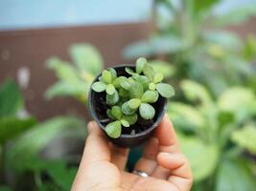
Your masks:
{"label": "thumb pressed against the left side of the black pot", "polygon": [[108,160],[110,161],[110,148],[104,133],[95,121],[88,123],[89,136],[86,139],[81,163]]}

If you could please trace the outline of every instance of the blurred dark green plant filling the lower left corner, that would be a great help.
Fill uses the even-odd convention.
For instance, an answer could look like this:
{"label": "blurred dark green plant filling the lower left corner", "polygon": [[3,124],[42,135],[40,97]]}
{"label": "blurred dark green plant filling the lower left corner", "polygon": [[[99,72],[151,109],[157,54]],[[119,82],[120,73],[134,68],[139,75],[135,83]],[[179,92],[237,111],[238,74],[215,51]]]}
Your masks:
{"label": "blurred dark green plant filling the lower left corner", "polygon": [[[38,123],[25,112],[18,86],[6,80],[0,86],[0,190],[69,190],[79,159],[42,152],[49,153],[45,148],[57,139],[71,137],[83,142],[81,119],[53,117]],[[70,164],[76,165],[68,167]]]}

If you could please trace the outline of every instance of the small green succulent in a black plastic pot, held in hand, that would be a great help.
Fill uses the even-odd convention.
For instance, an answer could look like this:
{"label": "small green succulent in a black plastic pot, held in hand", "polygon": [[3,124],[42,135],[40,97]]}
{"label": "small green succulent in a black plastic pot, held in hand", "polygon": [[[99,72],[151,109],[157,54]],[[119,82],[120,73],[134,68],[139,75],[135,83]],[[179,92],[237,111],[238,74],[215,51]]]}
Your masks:
{"label": "small green succulent in a black plastic pot, held in hand", "polygon": [[91,85],[92,116],[115,144],[132,147],[151,137],[165,112],[173,87],[163,83],[143,57],[136,66],[121,65],[104,70]]}

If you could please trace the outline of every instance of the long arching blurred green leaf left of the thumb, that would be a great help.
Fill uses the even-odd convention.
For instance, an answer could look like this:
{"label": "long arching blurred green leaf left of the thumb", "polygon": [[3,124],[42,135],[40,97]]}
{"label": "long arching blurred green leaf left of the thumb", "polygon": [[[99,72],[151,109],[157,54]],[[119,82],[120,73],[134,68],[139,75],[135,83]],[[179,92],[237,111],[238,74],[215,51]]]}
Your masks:
{"label": "long arching blurred green leaf left of the thumb", "polygon": [[77,117],[54,117],[40,124],[35,128],[26,131],[17,138],[7,151],[8,166],[14,170],[26,168],[35,159],[39,152],[54,138],[76,136],[85,137],[85,125]]}

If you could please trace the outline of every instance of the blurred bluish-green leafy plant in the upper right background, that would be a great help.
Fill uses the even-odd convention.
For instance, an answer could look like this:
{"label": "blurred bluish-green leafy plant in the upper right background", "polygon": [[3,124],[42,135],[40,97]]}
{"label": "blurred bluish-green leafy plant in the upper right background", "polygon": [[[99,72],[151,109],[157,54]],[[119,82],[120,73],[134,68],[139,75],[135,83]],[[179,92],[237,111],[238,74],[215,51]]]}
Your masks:
{"label": "blurred bluish-green leafy plant in the upper right background", "polygon": [[155,0],[155,31],[147,40],[128,46],[127,58],[161,56],[175,68],[176,80],[191,78],[206,85],[214,96],[232,84],[255,87],[256,38],[245,42],[223,27],[244,22],[256,6],[215,13],[219,0]]}

